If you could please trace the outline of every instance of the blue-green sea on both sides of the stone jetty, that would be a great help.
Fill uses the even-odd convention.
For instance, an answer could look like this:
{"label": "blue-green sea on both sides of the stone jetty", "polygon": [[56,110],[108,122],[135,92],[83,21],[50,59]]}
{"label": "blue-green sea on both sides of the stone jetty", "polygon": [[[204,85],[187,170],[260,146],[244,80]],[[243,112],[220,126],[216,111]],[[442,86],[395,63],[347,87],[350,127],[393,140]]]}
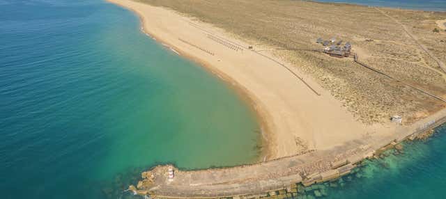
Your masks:
{"label": "blue-green sea on both sides of the stone jetty", "polygon": [[[130,11],[0,0],[0,198],[128,197],[156,164],[252,163],[259,132],[239,93],[141,33]],[[445,198],[445,143],[438,128],[300,198]]]}

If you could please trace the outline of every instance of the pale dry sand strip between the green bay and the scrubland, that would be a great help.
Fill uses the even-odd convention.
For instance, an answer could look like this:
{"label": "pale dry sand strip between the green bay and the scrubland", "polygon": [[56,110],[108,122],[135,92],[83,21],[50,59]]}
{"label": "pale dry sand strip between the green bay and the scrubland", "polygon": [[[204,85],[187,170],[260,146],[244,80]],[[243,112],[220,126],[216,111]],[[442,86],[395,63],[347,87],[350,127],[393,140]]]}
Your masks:
{"label": "pale dry sand strip between the green bay and the scrubland", "polygon": [[[184,17],[173,10],[131,0],[108,0],[129,8],[141,17],[144,32],[181,56],[199,61],[206,68],[242,89],[262,118],[266,159],[300,154],[307,150],[330,150],[364,136],[389,136],[396,125],[364,125],[327,90],[295,67],[291,70],[249,49],[236,50],[223,38],[236,40],[222,29]],[[208,32],[211,31],[212,33]],[[226,45],[223,45],[226,43]],[[264,159],[264,157],[261,157]]]}

